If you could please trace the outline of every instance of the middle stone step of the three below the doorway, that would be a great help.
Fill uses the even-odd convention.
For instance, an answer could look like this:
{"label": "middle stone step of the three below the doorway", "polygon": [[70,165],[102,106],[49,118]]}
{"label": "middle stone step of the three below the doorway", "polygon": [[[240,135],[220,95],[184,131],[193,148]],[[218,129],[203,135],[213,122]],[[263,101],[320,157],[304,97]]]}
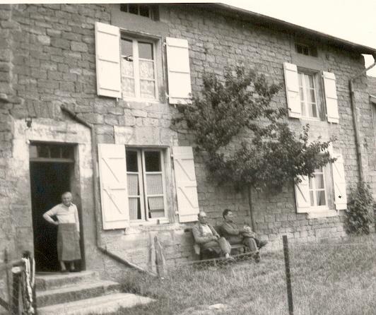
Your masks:
{"label": "middle stone step of the three below the doorway", "polygon": [[119,289],[119,283],[105,280],[93,280],[90,283],[66,285],[51,290],[37,291],[37,305],[38,307],[45,307],[52,304],[73,302],[79,299],[88,299],[90,297],[99,297],[100,295],[108,295],[113,292],[118,292]]}

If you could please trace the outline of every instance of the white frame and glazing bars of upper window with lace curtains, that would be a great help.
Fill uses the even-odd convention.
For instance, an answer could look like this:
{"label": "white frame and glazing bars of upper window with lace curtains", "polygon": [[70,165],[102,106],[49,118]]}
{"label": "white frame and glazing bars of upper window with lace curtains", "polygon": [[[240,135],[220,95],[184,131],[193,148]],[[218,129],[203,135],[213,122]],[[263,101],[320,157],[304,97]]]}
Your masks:
{"label": "white frame and glazing bars of upper window with lace curtains", "polygon": [[[133,63],[133,80],[134,80],[134,96],[127,96],[124,93],[124,90],[122,89],[122,100],[134,100],[134,101],[148,101],[148,102],[156,102],[159,100],[159,95],[158,95],[158,54],[157,54],[157,42],[158,40],[150,37],[141,37],[141,36],[136,36],[136,35],[129,35],[126,32],[123,32],[120,30],[120,76],[121,76],[121,85],[123,84],[123,74],[122,74],[122,68],[123,68],[123,62],[126,62],[124,59],[125,57],[129,57],[122,52],[122,40],[129,40],[132,42],[132,63]],[[153,71],[154,71],[154,79],[153,80],[147,80],[147,81],[154,81],[154,93],[155,97],[142,97],[141,96],[141,77],[140,77],[140,70],[139,70],[139,42],[145,42],[148,44],[152,44],[152,49],[153,49]],[[151,59],[143,59],[141,60],[147,60],[151,61]]]}

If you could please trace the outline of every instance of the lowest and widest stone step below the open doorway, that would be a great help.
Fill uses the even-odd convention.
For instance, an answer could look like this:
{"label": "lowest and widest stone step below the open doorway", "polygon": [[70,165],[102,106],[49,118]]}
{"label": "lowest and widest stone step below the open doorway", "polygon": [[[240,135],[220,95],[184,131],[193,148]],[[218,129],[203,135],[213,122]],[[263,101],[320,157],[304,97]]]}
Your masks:
{"label": "lowest and widest stone step below the open doorway", "polygon": [[39,315],[86,315],[86,314],[118,314],[120,308],[134,307],[137,304],[148,304],[155,301],[150,297],[141,297],[131,293],[114,293],[76,302],[39,307]]}

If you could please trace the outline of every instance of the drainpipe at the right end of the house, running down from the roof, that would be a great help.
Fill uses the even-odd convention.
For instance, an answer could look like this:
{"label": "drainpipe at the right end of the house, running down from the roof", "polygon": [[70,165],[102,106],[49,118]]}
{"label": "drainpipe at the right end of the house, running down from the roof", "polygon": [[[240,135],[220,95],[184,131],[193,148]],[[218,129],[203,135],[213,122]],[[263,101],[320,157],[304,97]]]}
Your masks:
{"label": "drainpipe at the right end of the house, running down from the roof", "polygon": [[360,182],[364,182],[364,174],[363,174],[363,161],[362,161],[362,150],[360,147],[360,137],[359,137],[359,127],[358,127],[358,114],[356,112],[356,102],[354,96],[354,88],[353,88],[353,81],[355,81],[360,76],[363,76],[365,72],[370,70],[376,65],[376,54],[372,54],[374,59],[373,64],[371,64],[368,68],[360,71],[356,76],[351,78],[348,83],[350,85],[350,96],[351,96],[351,112],[353,112],[353,124],[354,124],[354,131],[355,131],[355,143],[356,143],[356,155],[358,160],[358,170],[359,170],[359,180]]}

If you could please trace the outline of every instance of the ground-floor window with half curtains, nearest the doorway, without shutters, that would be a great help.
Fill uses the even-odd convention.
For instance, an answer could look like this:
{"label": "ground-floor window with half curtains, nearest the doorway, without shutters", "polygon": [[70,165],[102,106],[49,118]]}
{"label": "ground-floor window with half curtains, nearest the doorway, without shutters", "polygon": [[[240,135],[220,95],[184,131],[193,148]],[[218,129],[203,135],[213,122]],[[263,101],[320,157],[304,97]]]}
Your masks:
{"label": "ground-floor window with half curtains, nearest the doorway, without shutters", "polygon": [[129,219],[165,218],[163,150],[126,148]]}

